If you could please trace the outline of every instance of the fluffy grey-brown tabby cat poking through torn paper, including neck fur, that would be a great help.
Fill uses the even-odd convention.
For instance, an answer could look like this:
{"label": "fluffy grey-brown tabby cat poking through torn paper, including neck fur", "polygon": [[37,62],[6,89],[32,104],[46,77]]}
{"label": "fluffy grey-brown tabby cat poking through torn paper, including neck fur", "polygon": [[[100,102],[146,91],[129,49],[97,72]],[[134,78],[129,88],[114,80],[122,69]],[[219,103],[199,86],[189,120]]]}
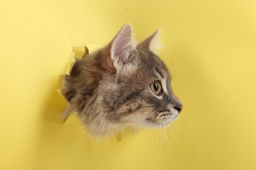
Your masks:
{"label": "fluffy grey-brown tabby cat poking through torn paper, including neck fur", "polygon": [[163,127],[177,119],[182,103],[155,54],[159,33],[137,44],[125,24],[107,46],[76,59],[61,91],[69,103],[64,120],[76,112],[91,135],[110,137],[125,127]]}

